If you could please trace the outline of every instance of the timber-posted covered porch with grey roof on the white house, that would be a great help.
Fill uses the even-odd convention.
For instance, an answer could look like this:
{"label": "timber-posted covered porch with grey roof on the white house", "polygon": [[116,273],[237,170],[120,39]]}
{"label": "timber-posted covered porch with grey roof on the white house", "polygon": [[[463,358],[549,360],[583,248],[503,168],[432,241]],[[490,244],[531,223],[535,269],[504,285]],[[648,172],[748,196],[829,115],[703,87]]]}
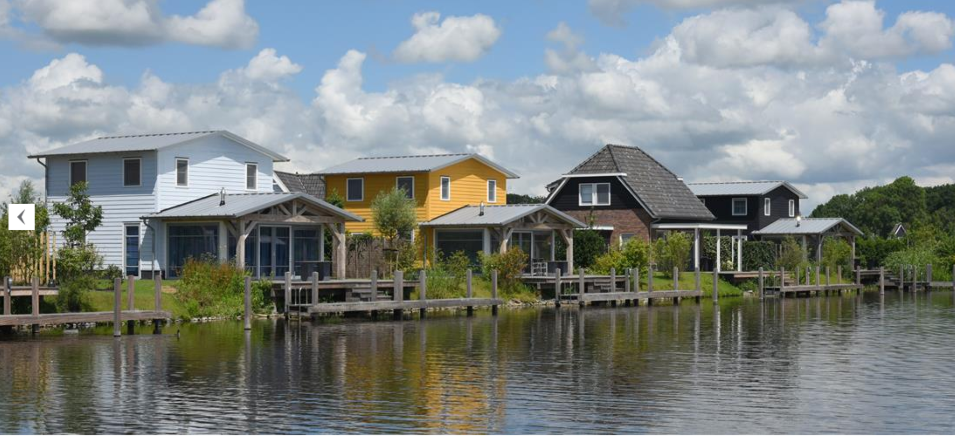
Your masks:
{"label": "timber-posted covered porch with grey roof on the white house", "polygon": [[[304,193],[212,195],[144,217],[159,236],[165,277],[178,277],[186,260],[234,262],[255,278],[286,274],[345,277],[344,224],[361,218]],[[331,237],[331,265],[325,234]]]}

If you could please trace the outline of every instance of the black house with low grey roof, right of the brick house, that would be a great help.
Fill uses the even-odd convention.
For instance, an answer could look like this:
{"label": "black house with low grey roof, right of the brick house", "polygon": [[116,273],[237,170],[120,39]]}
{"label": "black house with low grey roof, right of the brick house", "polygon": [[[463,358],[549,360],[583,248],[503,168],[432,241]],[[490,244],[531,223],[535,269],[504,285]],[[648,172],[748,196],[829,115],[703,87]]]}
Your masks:
{"label": "black house with low grey roof, right of the brick house", "polygon": [[760,180],[687,184],[715,217],[713,222],[745,224],[745,235],[780,218],[796,218],[806,195],[789,182]]}

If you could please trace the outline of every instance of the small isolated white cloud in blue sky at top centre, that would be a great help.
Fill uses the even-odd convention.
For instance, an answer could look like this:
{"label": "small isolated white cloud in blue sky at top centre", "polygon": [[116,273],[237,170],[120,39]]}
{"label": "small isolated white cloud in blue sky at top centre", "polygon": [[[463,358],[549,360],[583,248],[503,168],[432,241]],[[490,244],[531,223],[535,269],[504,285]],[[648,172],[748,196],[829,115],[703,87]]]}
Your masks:
{"label": "small isolated white cloud in blue sky at top centre", "polygon": [[[414,35],[394,49],[400,62],[473,62],[498,41],[500,29],[494,19],[477,13],[449,16],[443,21],[435,11],[415,13]],[[440,22],[440,23],[439,23]]]}

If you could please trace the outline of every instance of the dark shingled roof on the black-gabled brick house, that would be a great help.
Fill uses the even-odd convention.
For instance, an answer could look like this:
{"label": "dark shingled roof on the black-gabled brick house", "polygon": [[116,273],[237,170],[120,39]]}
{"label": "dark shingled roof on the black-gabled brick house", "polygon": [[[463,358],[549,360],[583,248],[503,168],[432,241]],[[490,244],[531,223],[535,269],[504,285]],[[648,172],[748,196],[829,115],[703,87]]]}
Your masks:
{"label": "dark shingled roof on the black-gabled brick house", "polygon": [[652,218],[711,220],[709,209],[690,187],[638,147],[607,144],[568,175],[626,173],[621,180]]}

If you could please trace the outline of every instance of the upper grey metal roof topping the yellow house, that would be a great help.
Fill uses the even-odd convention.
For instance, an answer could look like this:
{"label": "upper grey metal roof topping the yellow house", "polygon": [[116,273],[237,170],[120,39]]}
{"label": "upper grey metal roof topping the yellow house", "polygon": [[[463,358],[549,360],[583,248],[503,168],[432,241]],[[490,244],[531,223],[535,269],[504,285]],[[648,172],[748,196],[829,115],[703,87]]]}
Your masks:
{"label": "upper grey metal roof topping the yellow house", "polygon": [[359,157],[317,172],[318,175],[361,175],[369,173],[434,172],[466,159],[475,158],[508,178],[519,177],[490,159],[477,154]]}

